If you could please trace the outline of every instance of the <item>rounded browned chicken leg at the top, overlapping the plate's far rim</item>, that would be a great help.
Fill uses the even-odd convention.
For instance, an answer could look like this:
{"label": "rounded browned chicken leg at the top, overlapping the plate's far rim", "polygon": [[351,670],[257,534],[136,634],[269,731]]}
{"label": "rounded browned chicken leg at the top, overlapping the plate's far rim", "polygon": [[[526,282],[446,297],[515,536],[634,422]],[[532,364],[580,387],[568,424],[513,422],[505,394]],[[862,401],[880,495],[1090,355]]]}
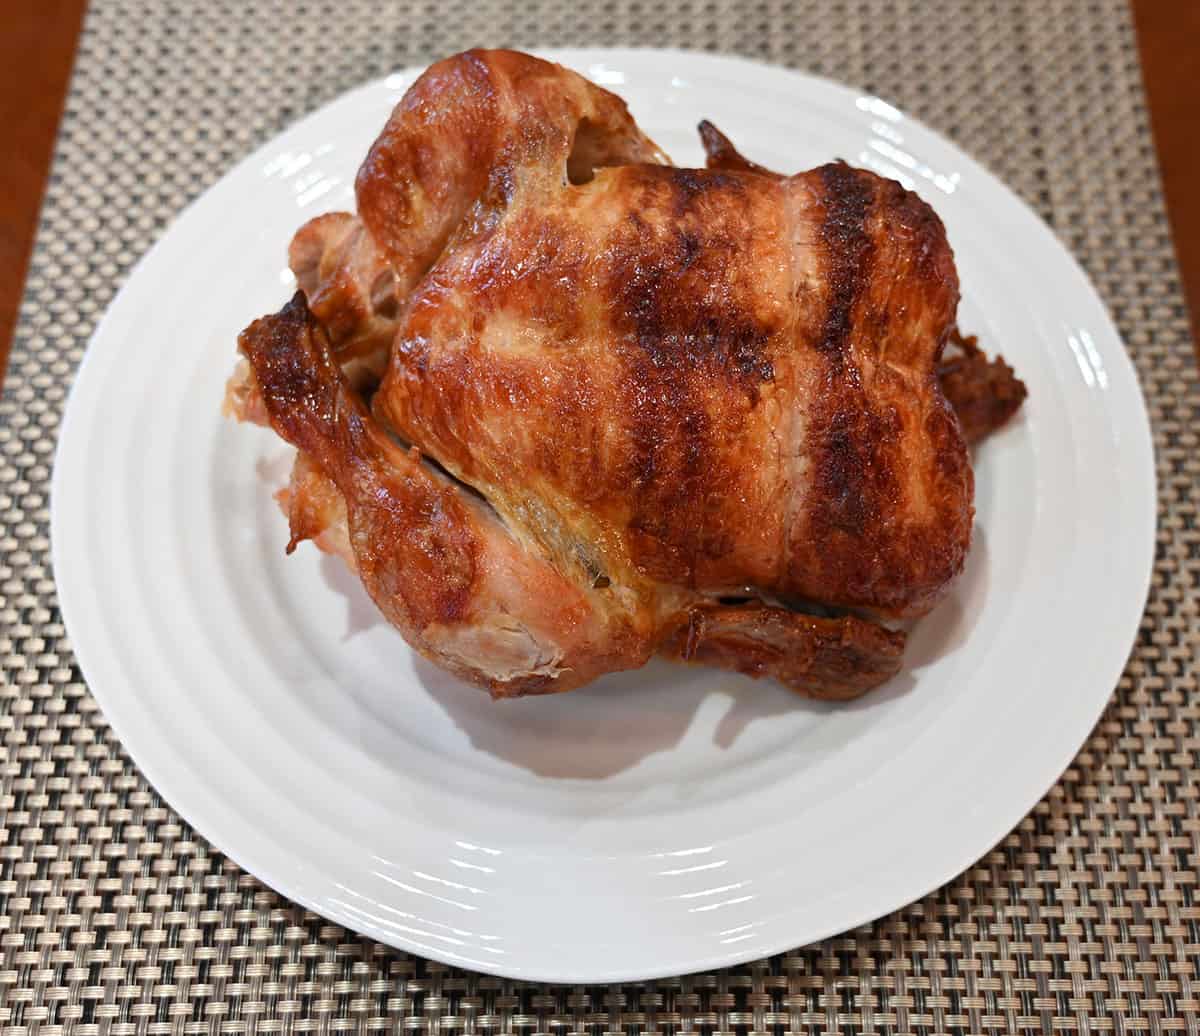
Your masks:
{"label": "rounded browned chicken leg at the top, overlapping the plate's far rim", "polygon": [[666,161],[616,94],[528,54],[467,50],[431,65],[404,94],[355,193],[403,294],[473,209],[509,205],[598,166]]}

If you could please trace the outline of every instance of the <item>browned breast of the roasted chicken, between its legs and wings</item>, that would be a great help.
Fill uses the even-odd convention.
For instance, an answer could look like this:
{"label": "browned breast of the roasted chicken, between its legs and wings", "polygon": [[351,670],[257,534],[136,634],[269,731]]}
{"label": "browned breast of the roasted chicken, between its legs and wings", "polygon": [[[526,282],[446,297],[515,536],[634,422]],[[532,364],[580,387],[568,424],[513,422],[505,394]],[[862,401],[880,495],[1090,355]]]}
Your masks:
{"label": "browned breast of the roasted chicken, between its legs and wings", "polygon": [[972,520],[932,210],[842,164],[518,198],[414,292],[376,411],[560,563],[928,611]]}

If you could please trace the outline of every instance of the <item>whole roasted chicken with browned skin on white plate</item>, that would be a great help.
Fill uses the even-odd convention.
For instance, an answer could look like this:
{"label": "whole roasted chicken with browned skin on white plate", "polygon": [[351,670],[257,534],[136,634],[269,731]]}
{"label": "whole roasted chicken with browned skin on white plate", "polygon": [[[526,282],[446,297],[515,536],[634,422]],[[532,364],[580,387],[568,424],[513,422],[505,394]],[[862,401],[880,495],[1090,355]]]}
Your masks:
{"label": "whole roasted chicken with browned skin on white plate", "polygon": [[1024,388],[956,337],[940,220],[701,133],[676,168],[574,72],[440,61],[240,337],[227,408],[298,449],[288,550],[494,696],[661,653],[850,697],[962,569],[967,439]]}

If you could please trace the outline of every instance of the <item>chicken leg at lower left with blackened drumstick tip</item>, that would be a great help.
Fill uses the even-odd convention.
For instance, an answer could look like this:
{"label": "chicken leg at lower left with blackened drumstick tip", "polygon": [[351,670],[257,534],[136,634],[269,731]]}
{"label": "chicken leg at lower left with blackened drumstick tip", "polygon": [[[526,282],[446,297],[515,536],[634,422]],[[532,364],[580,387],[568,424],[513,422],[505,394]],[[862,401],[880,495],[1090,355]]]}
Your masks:
{"label": "chicken leg at lower left with blackened drumstick tip", "polygon": [[[626,613],[524,550],[491,508],[392,441],[302,293],[240,343],[271,426],[325,474],[302,498],[336,489],[364,586],[422,654],[499,694],[565,690],[646,661],[648,637]],[[311,534],[296,519],[293,507],[292,545]]]}

